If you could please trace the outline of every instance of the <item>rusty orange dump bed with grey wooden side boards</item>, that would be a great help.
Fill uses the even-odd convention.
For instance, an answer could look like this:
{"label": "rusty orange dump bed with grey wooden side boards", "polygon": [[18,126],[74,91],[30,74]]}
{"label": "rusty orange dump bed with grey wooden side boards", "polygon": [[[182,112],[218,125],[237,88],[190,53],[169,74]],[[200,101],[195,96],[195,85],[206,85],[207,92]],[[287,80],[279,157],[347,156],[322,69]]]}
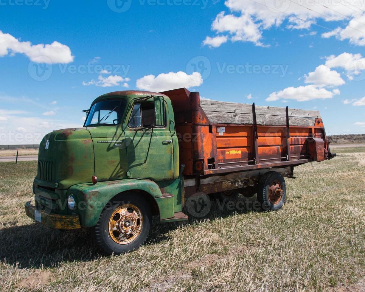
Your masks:
{"label": "rusty orange dump bed with grey wooden side boards", "polygon": [[332,158],[318,111],[200,99],[163,92],[174,108],[185,175],[287,167]]}

